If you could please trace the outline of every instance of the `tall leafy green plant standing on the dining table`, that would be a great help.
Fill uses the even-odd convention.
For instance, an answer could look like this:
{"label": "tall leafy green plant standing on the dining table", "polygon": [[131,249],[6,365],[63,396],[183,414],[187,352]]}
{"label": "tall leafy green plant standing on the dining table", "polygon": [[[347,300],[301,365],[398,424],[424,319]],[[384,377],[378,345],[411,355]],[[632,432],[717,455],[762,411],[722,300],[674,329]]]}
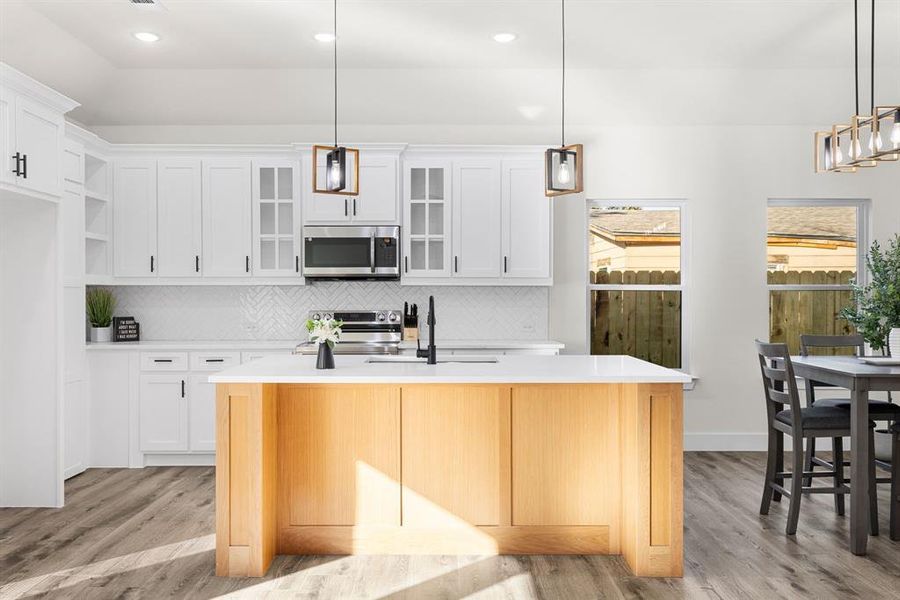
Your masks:
{"label": "tall leafy green plant standing on the dining table", "polygon": [[891,329],[900,327],[900,234],[888,242],[886,250],[873,242],[866,254],[871,281],[851,284],[853,304],[841,311],[873,350],[884,353]]}

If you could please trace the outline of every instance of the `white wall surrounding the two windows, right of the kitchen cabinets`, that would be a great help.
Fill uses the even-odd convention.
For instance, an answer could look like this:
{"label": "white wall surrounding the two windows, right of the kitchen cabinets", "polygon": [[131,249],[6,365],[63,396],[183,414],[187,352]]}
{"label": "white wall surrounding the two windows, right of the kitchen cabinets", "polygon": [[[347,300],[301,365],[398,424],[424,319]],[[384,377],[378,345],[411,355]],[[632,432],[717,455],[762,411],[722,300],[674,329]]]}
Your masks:
{"label": "white wall surrounding the two windows, right of the kitchen cabinets", "polygon": [[[766,201],[870,198],[873,239],[886,240],[900,232],[900,164],[816,175],[808,127],[602,128],[577,141],[586,144],[587,198],[687,200],[693,251],[685,302],[690,370],[699,380],[685,394],[686,446],[763,449],[753,340],[768,335]],[[550,335],[567,352],[585,352],[584,200],[555,202]]]}

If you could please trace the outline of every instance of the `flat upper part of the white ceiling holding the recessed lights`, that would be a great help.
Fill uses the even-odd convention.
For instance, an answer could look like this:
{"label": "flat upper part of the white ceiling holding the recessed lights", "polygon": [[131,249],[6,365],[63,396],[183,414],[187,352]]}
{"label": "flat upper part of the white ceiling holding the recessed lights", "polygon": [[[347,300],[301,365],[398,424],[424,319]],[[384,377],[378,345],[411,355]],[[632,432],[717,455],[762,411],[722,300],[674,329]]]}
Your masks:
{"label": "flat upper part of the white ceiling holding the recessed lights", "polygon": [[[328,0],[28,0],[120,68],[325,68]],[[12,2],[5,2],[12,3]],[[868,10],[868,2],[860,2]],[[574,68],[830,67],[852,64],[850,0],[569,0]],[[881,58],[900,64],[900,1],[879,0]],[[547,68],[559,64],[558,0],[339,0],[350,68]],[[863,29],[867,30],[865,21]],[[152,31],[157,44],[132,34]],[[492,35],[519,38],[498,44]]]}

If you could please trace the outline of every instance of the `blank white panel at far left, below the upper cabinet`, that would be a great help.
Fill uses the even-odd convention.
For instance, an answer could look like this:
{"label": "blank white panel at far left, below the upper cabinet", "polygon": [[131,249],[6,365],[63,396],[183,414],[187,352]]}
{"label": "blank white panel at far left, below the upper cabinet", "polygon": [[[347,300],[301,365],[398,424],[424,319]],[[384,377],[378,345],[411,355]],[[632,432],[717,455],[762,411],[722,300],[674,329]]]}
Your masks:
{"label": "blank white panel at far left, below the upper cabinet", "polygon": [[62,506],[57,207],[0,193],[0,506]]}

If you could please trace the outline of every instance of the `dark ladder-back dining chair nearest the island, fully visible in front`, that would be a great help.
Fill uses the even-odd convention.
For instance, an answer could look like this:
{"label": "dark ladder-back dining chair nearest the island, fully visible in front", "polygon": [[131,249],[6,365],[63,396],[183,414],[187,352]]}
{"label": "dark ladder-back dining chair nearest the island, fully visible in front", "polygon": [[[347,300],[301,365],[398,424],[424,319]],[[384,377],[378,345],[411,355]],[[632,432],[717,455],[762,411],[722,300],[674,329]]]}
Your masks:
{"label": "dark ladder-back dining chair nearest the island, fully visible in front", "polygon": [[[768,433],[768,456],[766,460],[766,480],[763,487],[762,503],[759,513],[769,514],[769,506],[773,494],[787,496],[790,500],[785,533],[797,533],[797,522],[800,517],[800,501],[804,493],[834,494],[835,510],[844,514],[844,495],[850,493],[850,486],[844,481],[843,468],[832,468],[830,471],[805,471],[803,444],[816,438],[831,438],[834,443],[834,464],[843,465],[843,446],[841,439],[850,435],[850,412],[833,406],[800,406],[800,394],[797,391],[797,379],[786,344],[772,344],[756,340],[756,351],[762,373],[763,392],[766,401],[766,419]],[[785,408],[787,406],[788,408]],[[869,446],[874,448],[875,423],[870,422]],[[783,471],[784,435],[793,438],[792,470]],[[873,450],[874,451],[874,450]],[[831,487],[813,486],[812,479],[830,477]],[[810,485],[804,486],[809,479]],[[870,461],[869,479],[875,478],[875,463]],[[790,490],[785,488],[784,480],[790,479]],[[870,528],[873,534],[878,531],[878,510],[875,485],[870,486]]]}

